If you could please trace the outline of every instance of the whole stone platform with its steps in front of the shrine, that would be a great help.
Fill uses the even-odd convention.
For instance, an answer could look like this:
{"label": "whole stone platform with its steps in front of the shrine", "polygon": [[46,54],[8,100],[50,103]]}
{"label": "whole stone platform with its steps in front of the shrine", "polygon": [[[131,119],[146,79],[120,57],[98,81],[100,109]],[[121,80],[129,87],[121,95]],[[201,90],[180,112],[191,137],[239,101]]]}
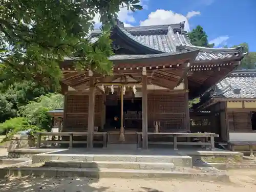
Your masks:
{"label": "whole stone platform with its steps in front of the shrine", "polygon": [[93,178],[200,178],[200,180],[228,181],[228,175],[215,167],[201,168],[199,165],[195,167],[194,156],[242,157],[243,155],[217,149],[215,151],[196,149],[175,151],[169,148],[150,148],[149,150],[32,148],[26,149],[27,151],[30,154],[38,151],[38,154],[32,155],[31,163],[2,168],[0,177],[33,175]]}

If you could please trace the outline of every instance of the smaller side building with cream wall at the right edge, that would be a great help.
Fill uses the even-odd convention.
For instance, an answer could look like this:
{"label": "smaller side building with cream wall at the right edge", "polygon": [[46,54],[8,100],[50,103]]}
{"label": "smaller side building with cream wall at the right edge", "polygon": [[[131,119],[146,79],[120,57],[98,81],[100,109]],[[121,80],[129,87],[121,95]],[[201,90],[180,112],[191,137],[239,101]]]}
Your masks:
{"label": "smaller side building with cream wall at the right edge", "polygon": [[196,105],[219,120],[222,141],[256,142],[256,70],[236,70]]}

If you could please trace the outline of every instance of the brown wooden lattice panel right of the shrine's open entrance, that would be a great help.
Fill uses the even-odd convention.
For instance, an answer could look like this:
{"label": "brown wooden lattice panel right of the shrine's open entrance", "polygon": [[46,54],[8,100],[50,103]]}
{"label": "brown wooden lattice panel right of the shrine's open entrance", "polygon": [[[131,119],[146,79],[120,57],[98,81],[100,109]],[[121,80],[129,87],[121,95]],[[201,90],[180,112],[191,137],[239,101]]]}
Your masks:
{"label": "brown wooden lattice panel right of the shrine's open entrance", "polygon": [[148,127],[154,126],[154,121],[160,121],[160,131],[185,127],[185,95],[148,95]]}

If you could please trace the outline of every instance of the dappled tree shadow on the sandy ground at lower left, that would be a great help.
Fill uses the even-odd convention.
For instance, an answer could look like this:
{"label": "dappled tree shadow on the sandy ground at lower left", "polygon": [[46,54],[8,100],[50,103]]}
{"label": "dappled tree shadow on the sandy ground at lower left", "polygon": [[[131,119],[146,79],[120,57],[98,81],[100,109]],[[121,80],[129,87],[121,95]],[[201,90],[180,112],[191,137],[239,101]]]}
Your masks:
{"label": "dappled tree shadow on the sandy ground at lower left", "polygon": [[[40,166],[39,166],[40,167]],[[95,163],[94,167],[99,170],[98,164]],[[51,176],[50,174],[55,176]],[[79,173],[79,172],[78,172]],[[42,178],[42,175],[46,175],[47,177]],[[0,180],[0,191],[1,192],[28,192],[28,191],[40,191],[40,192],[89,192],[89,191],[98,191],[103,192],[108,187],[95,187],[93,186],[95,183],[99,181],[99,173],[95,172],[93,175],[81,175],[82,177],[69,177],[69,172],[65,172],[62,170],[58,170],[57,172],[35,172],[36,177],[32,176],[24,176],[24,177],[9,177],[8,179]],[[83,174],[80,172],[80,174]],[[86,174],[86,173],[84,173]],[[85,176],[85,177],[84,177]]]}

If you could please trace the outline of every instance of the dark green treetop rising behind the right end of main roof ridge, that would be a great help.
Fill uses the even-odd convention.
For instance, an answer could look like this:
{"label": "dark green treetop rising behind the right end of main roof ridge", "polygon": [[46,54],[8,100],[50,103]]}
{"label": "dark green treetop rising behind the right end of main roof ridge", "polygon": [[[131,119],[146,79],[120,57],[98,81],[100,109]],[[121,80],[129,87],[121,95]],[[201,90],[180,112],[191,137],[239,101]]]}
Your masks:
{"label": "dark green treetop rising behind the right end of main roof ridge", "polygon": [[191,44],[194,46],[200,46],[200,47],[209,47],[213,48],[214,44],[208,43],[208,36],[206,35],[203,28],[198,25],[196,29],[193,29],[191,32],[188,33],[188,37],[191,41]]}

